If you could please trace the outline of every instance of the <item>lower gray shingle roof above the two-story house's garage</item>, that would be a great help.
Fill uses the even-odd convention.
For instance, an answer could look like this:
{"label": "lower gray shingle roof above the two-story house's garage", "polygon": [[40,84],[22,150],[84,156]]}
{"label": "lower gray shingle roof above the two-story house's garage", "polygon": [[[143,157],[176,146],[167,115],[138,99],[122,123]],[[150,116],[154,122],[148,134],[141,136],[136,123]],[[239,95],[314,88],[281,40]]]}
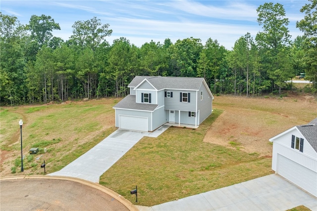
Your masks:
{"label": "lower gray shingle roof above the two-story house's garage", "polygon": [[135,95],[128,95],[123,98],[117,105],[113,106],[113,108],[125,108],[125,109],[133,109],[133,110],[147,110],[153,111],[157,108],[158,105],[155,104],[138,104],[135,102]]}

